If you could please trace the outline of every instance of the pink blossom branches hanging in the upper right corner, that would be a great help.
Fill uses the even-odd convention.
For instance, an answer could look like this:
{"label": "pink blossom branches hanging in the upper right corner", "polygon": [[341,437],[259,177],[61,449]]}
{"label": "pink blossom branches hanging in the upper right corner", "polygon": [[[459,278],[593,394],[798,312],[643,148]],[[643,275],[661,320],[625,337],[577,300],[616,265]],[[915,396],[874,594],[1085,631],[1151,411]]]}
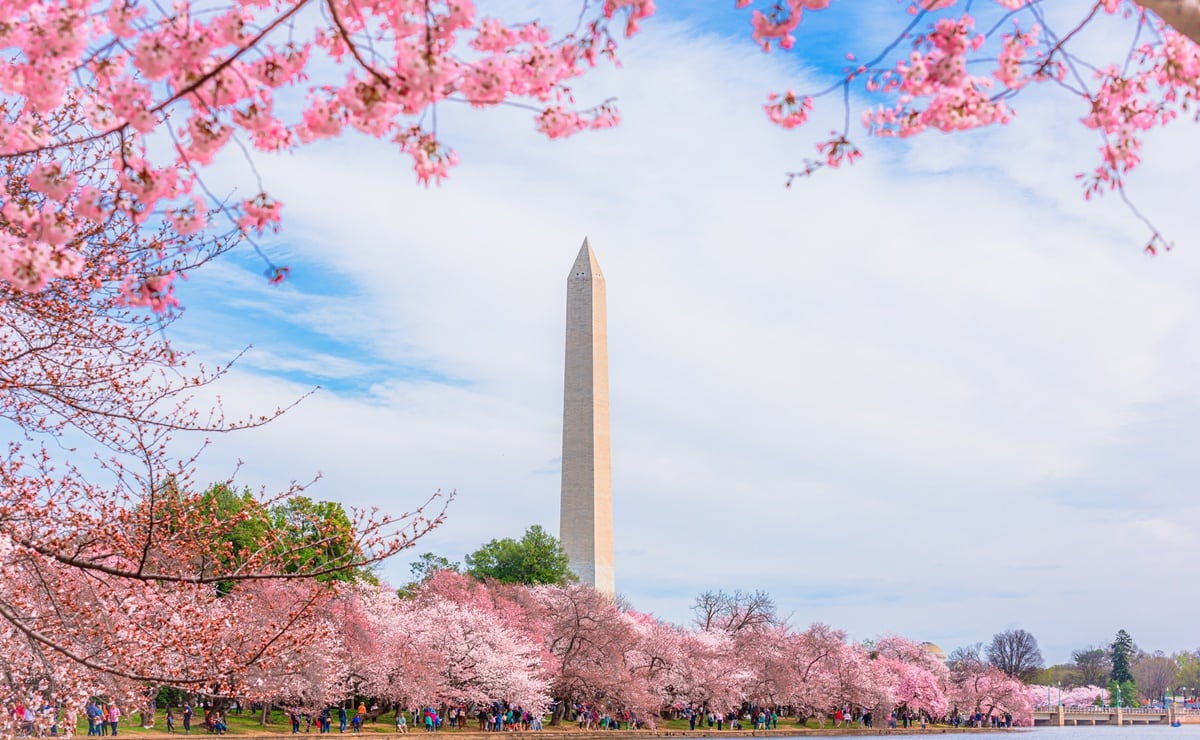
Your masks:
{"label": "pink blossom branches hanging in the upper right corner", "polygon": [[[737,4],[751,8],[754,40],[769,50],[793,48],[804,11],[824,10],[830,1]],[[1169,248],[1129,199],[1126,182],[1141,161],[1144,136],[1187,115],[1200,97],[1200,4],[1094,0],[1073,7],[1073,18],[1037,0],[973,6],[908,0],[887,10],[898,14],[890,43],[862,59],[847,54],[844,72],[823,90],[768,96],[768,118],[785,128],[803,126],[815,101],[824,96],[838,95],[845,110],[842,126],[817,145],[820,157],[806,161],[788,181],[862,156],[850,125],[852,92],[869,106],[862,114],[868,134],[906,138],[1008,124],[1022,91],[1054,85],[1078,101],[1079,119],[1097,134],[1098,162],[1092,172],[1078,174],[1084,195],[1115,193],[1147,227],[1147,252]],[[1102,25],[1110,19],[1124,19],[1123,26]],[[1100,52],[1086,42],[1092,29],[1104,36]]]}

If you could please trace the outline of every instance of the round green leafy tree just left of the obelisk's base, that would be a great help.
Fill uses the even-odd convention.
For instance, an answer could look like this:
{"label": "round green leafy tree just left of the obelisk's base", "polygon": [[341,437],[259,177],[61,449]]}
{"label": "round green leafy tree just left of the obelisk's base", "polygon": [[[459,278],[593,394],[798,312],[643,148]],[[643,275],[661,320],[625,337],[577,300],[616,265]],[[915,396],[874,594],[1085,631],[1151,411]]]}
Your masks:
{"label": "round green leafy tree just left of the obelisk's base", "polygon": [[492,540],[466,558],[467,573],[479,580],[562,585],[577,580],[562,542],[534,524],[520,540]]}

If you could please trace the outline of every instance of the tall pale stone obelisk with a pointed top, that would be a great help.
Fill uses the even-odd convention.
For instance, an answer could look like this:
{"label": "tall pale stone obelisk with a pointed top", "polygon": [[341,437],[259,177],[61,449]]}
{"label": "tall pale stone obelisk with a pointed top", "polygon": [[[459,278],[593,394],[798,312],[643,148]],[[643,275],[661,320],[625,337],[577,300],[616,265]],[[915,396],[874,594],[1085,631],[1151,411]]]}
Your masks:
{"label": "tall pale stone obelisk with a pointed top", "polygon": [[608,327],[604,272],[583,240],[566,278],[559,539],[580,582],[613,594]]}

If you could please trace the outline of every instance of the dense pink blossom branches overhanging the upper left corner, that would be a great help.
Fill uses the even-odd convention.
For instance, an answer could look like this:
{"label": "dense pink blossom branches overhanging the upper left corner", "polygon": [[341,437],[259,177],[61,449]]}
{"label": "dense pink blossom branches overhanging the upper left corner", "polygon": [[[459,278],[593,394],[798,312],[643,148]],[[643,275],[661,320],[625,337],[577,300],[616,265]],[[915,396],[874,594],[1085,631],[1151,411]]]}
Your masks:
{"label": "dense pink blossom branches overhanging the upper left corner", "polygon": [[[444,101],[527,106],[551,138],[612,126],[611,102],[580,109],[568,82],[614,58],[616,37],[653,10],[653,0],[583,4],[576,28],[556,36],[539,22],[478,17],[470,0],[6,4],[0,279],[36,291],[79,275],[91,240],[116,219],[132,229],[119,249],[152,243],[146,259],[114,266],[121,299],[169,311],[192,235],[253,241],[280,221],[282,204],[260,182],[235,203],[205,187],[200,175],[222,151],[287,151],[358,131],[395,144],[431,182],[457,161],[437,133]],[[271,281],[286,275],[268,264]]]}

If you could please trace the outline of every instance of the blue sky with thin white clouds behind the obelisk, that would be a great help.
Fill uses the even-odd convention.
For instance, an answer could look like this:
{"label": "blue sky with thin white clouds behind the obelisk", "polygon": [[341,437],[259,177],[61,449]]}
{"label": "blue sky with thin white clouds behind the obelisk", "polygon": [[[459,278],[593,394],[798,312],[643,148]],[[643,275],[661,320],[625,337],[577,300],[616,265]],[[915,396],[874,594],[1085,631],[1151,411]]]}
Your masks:
{"label": "blue sky with thin white clouds behind the obelisk", "polygon": [[[502,11],[559,22],[546,5]],[[566,277],[588,237],[634,608],[686,622],[701,591],[762,589],[793,625],[853,639],[949,651],[1020,627],[1049,663],[1118,628],[1196,649],[1195,126],[1151,137],[1130,181],[1177,245],[1154,258],[1120,200],[1081,197],[1099,142],[1061,90],[968,134],[854,124],[862,162],[787,188],[841,112],[820,101],[781,131],[767,92],[826,86],[902,14],[834,4],[763,54],[732,2],[661,5],[622,68],[576,85],[617,98],[616,130],[550,142],[528,110],[443,106],[461,164],[432,188],[364,138],[256,156],[286,203],[263,248],[292,279],[266,285],[240,249],[182,285],[170,332],[205,361],[251,348],[227,409],[304,399],[214,439],[198,476],[319,473],[308,495],[390,512],[455,492],[383,566],[397,585],[424,552],[557,533]],[[252,194],[246,167],[221,167]]]}

